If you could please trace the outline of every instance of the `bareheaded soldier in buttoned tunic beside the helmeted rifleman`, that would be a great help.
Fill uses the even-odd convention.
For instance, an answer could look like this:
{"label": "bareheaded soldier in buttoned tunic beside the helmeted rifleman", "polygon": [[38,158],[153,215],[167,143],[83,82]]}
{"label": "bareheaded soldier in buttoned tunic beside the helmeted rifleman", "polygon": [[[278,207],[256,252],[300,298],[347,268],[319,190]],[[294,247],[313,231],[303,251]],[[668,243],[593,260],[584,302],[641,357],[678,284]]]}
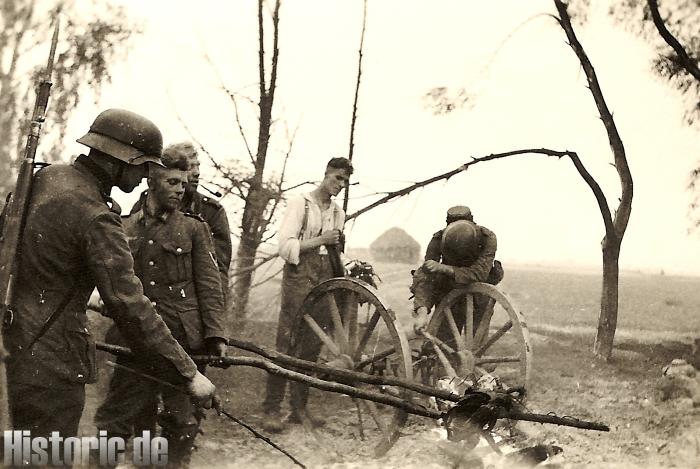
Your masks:
{"label": "bareheaded soldier in buttoned tunic beside the helmeted rifleman", "polygon": [[[149,174],[141,210],[123,219],[136,275],[185,350],[224,356],[224,300],[209,227],[198,215],[178,210],[189,163],[182,153],[164,152],[163,164],[165,168]],[[107,332],[107,341],[121,344],[115,327]],[[118,361],[128,367],[142,366],[130,359]],[[186,467],[201,419],[186,395],[117,368],[95,424],[110,436],[124,439],[146,430],[153,435],[159,395],[164,412],[158,420],[169,443],[168,465]]]}

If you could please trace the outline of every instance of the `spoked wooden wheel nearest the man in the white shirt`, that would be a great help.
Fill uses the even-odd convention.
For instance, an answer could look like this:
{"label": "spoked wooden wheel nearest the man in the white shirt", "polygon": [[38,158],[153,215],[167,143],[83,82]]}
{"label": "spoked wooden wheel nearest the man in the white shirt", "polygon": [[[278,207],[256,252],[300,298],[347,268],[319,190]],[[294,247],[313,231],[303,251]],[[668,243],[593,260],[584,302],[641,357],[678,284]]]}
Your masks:
{"label": "spoked wooden wheel nearest the man in the white shirt", "polygon": [[[322,347],[317,361],[336,368],[413,378],[408,341],[396,324],[393,311],[387,309],[377,291],[367,283],[352,278],[333,278],[316,286],[302,305],[300,331]],[[309,330],[311,332],[309,332]],[[313,350],[314,344],[308,344]],[[311,355],[315,355],[313,352]],[[314,359],[313,356],[301,357]],[[357,387],[391,393],[409,399],[402,389],[362,383]],[[337,403],[337,404],[336,404]],[[407,413],[371,401],[333,398],[326,404],[328,422],[324,433],[344,441],[357,441],[359,453],[371,449],[375,456],[384,455],[399,437]],[[338,418],[334,418],[338,416]],[[348,422],[353,422],[348,425]]]}

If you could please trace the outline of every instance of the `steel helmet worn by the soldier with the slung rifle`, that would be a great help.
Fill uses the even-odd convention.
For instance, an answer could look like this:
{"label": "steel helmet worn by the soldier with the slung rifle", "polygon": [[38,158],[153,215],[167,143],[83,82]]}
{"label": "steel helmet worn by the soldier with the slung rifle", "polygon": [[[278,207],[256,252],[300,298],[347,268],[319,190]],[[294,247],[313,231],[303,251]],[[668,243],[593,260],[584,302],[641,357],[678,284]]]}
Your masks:
{"label": "steel helmet worn by the soldier with the slung rifle", "polygon": [[158,127],[139,114],[124,109],[101,112],[90,131],[77,140],[131,165],[155,163],[163,166],[163,135]]}

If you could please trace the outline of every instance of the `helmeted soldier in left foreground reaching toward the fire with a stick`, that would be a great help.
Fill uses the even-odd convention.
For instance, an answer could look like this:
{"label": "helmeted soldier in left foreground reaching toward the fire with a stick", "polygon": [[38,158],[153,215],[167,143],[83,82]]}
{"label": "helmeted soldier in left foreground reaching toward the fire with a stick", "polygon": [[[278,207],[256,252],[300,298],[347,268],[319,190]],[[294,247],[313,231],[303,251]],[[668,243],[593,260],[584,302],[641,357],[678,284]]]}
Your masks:
{"label": "helmeted soldier in left foreground reaching toward the fire with a stick", "polygon": [[16,315],[4,330],[13,427],[32,436],[77,433],[85,384],[95,381],[97,371],[86,315],[95,287],[134,350],[185,384],[195,399],[214,392],[143,295],[119,208],[109,196],[113,186],[133,191],[147,163],[161,164],[160,131],[138,114],[110,109],[78,142],[90,148],[87,156],[36,173],[19,255]]}

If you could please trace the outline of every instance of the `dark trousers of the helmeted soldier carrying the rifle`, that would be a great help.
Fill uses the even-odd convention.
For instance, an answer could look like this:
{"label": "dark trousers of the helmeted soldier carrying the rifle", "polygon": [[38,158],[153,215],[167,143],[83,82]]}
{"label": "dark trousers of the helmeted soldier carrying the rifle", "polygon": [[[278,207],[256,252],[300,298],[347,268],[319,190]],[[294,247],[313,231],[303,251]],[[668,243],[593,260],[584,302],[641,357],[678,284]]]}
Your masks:
{"label": "dark trousers of the helmeted soldier carrying the rifle", "polygon": [[[49,438],[52,432],[58,432],[64,439],[78,434],[78,424],[85,406],[84,384],[66,382],[42,387],[8,380],[7,388],[13,430],[29,430],[32,437],[45,438]],[[0,451],[2,449],[4,446]],[[51,446],[47,451],[50,455]],[[63,455],[63,444],[59,444],[59,455]],[[35,467],[30,463],[24,461],[21,466]]]}

